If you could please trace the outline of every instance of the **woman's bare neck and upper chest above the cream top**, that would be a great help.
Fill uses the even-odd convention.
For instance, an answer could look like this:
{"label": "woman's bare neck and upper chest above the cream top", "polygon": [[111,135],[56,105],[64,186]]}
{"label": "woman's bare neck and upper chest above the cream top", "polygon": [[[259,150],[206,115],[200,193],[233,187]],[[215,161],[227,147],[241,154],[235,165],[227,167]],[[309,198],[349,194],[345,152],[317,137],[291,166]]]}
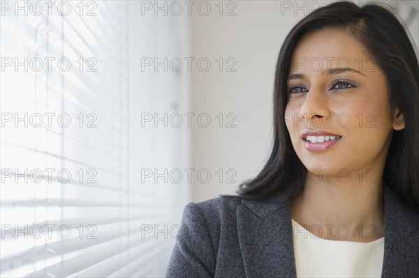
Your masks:
{"label": "woman's bare neck and upper chest above the cream top", "polygon": [[313,180],[307,180],[302,193],[291,200],[296,222],[329,240],[370,242],[384,236],[382,180]]}

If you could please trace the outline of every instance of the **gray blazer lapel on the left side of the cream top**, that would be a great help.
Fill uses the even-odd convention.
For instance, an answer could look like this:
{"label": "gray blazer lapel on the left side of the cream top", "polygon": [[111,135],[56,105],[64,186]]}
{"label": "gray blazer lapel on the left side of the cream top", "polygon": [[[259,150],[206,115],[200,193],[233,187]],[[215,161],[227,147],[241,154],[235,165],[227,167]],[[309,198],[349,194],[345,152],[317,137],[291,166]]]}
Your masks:
{"label": "gray blazer lapel on the left side of the cream top", "polygon": [[236,212],[246,277],[296,277],[289,199],[243,200]]}

